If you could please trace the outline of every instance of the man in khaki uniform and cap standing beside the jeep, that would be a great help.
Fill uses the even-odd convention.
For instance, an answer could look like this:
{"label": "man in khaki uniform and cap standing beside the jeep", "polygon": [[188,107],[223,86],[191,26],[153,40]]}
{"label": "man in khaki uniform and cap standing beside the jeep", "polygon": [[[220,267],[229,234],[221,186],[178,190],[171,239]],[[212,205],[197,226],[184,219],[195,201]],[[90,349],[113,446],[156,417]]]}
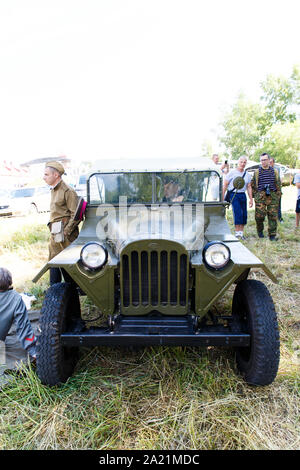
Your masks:
{"label": "man in khaki uniform and cap standing beside the jeep", "polygon": [[[50,228],[49,258],[51,260],[62,250],[67,248],[79,234],[78,220],[74,220],[74,214],[78,204],[78,196],[73,188],[62,179],[65,173],[61,163],[51,161],[46,163],[44,181],[51,187],[50,202]],[[65,270],[62,270],[64,280],[72,282],[72,278]],[[59,268],[50,268],[50,285],[61,282]]]}

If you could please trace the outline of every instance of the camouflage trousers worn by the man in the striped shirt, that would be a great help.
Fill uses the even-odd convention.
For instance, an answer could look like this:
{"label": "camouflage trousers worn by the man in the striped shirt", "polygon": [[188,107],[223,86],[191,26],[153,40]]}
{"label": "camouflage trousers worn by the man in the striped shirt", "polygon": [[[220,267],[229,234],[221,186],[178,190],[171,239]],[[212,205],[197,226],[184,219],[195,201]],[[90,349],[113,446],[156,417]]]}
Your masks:
{"label": "camouflage trousers worn by the man in the striped shirt", "polygon": [[276,235],[279,199],[280,194],[275,191],[271,191],[270,196],[266,196],[265,191],[258,191],[254,195],[255,221],[258,233],[263,232],[264,220],[267,216],[269,237]]}

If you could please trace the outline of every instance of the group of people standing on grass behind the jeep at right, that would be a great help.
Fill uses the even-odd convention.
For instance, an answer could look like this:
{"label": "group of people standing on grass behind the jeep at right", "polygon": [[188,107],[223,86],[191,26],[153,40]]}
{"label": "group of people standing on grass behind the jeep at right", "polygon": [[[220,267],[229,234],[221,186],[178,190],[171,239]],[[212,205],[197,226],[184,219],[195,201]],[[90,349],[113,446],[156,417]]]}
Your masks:
{"label": "group of people standing on grass behind the jeep at right", "polygon": [[[235,236],[244,240],[244,227],[247,224],[247,197],[249,207],[255,203],[255,222],[259,238],[264,238],[264,222],[268,220],[268,236],[271,241],[276,241],[277,223],[283,222],[281,213],[282,185],[280,178],[280,166],[275,159],[267,153],[260,156],[260,166],[254,170],[253,176],[245,170],[247,157],[238,159],[237,167],[230,170],[228,162],[219,165],[219,156],[214,154],[212,160],[223,173],[223,200],[231,204]],[[300,173],[296,173],[294,184],[297,188],[296,198],[296,229],[300,222]]]}

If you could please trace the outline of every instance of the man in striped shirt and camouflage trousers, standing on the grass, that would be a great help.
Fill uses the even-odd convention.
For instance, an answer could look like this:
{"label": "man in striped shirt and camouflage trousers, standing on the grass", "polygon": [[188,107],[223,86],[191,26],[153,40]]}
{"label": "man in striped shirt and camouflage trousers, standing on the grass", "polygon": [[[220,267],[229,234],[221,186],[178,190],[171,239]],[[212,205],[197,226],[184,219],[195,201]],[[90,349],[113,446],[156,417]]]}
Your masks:
{"label": "man in striped shirt and camouflage trousers, standing on the grass", "polygon": [[252,193],[255,200],[255,221],[259,238],[264,238],[264,220],[268,217],[270,240],[276,240],[278,206],[281,197],[281,182],[278,170],[270,166],[267,153],[260,156],[261,166],[255,170],[252,179]]}

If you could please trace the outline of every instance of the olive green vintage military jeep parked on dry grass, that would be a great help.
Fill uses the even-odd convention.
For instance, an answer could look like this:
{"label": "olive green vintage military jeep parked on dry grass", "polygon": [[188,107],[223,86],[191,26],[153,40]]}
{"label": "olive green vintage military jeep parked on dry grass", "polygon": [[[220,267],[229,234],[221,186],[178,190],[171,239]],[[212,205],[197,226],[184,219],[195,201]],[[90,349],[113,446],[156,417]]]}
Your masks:
{"label": "olive green vintage military jeep parked on dry grass", "polygon": [[[227,346],[246,382],[270,384],[279,363],[269,269],[230,232],[222,176],[208,159],[99,162],[87,179],[78,239],[44,266],[76,285],[51,286],[40,318],[37,373],[44,384],[73,373],[80,346]],[[236,284],[232,312],[214,304]],[[105,318],[89,327],[85,293]]]}

